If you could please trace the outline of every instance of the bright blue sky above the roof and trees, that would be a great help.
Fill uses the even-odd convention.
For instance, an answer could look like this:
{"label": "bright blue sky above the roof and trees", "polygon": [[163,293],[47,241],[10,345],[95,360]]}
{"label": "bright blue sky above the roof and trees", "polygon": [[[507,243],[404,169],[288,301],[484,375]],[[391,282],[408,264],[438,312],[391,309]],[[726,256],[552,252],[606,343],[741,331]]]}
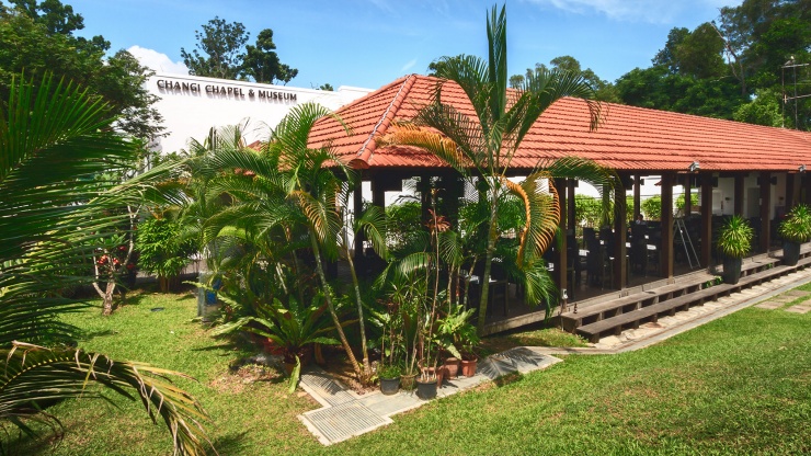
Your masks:
{"label": "bright blue sky above the roof and trees", "polygon": [[[84,16],[81,35],[104,35],[157,70],[182,72],[181,47],[215,15],[241,22],[251,43],[272,29],[283,62],[298,68],[295,87],[376,89],[424,73],[441,56],[487,56],[492,0],[62,0]],[[501,4],[501,3],[500,3]],[[571,55],[614,81],[650,66],[674,26],[694,29],[740,0],[511,0],[510,73]]]}

